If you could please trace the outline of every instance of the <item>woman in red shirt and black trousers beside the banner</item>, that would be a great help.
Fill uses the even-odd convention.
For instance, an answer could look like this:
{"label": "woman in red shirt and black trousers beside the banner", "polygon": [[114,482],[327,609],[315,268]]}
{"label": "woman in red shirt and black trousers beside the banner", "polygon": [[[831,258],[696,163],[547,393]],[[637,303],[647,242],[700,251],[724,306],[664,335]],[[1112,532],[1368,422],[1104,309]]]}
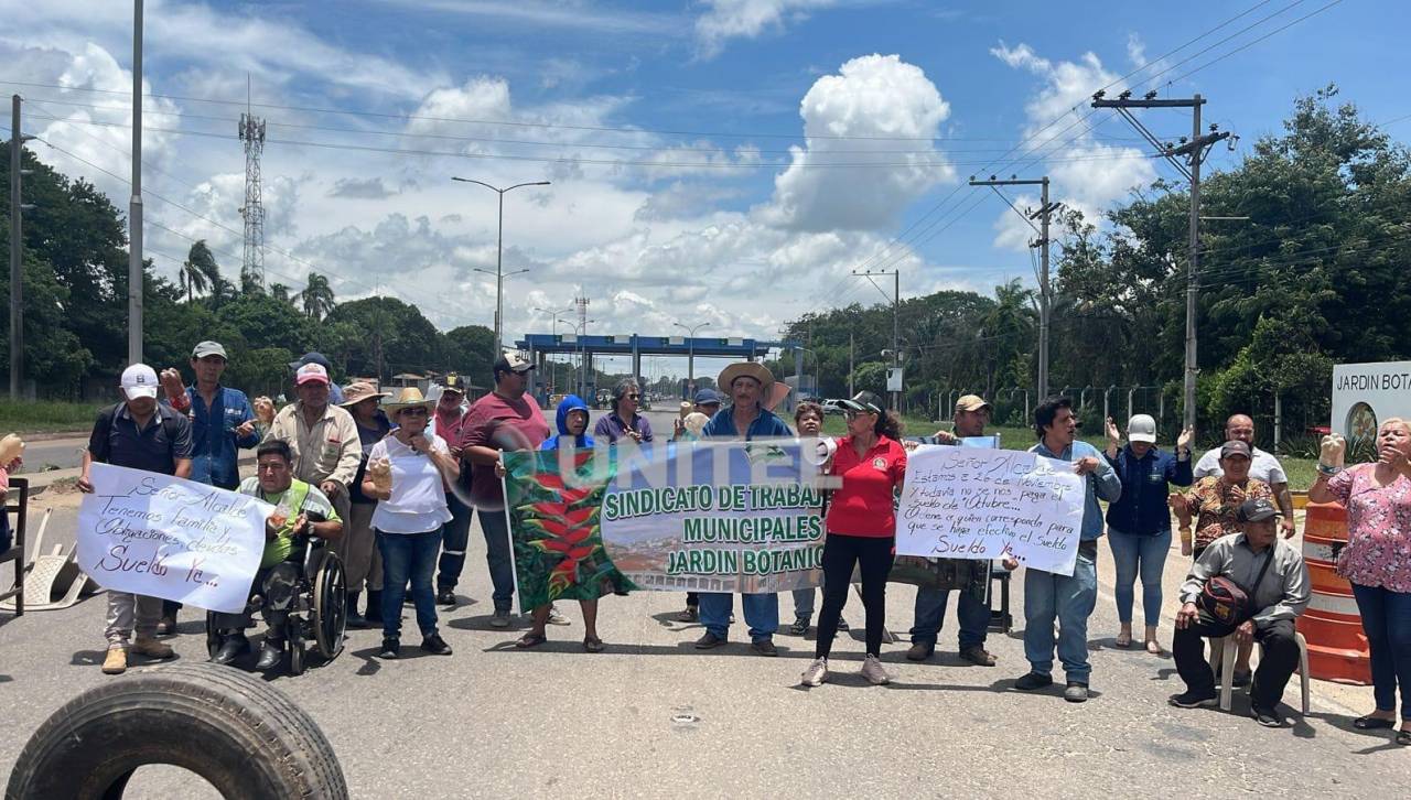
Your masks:
{"label": "woman in red shirt and black trousers beside the banner", "polygon": [[828,653],[838,632],[838,618],[848,602],[852,570],[862,573],[862,605],[868,619],[868,652],[862,677],[886,683],[878,657],[886,622],[886,576],[892,571],[896,540],[893,495],[906,477],[906,450],[899,442],[902,422],[882,411],[872,392],[858,392],[842,401],[848,435],[838,440],[828,474],[842,478],[832,492],[825,519],[828,539],[823,545],[823,611],[818,612],[818,641],[814,662],[803,673],[804,686],[818,686],[828,677]]}

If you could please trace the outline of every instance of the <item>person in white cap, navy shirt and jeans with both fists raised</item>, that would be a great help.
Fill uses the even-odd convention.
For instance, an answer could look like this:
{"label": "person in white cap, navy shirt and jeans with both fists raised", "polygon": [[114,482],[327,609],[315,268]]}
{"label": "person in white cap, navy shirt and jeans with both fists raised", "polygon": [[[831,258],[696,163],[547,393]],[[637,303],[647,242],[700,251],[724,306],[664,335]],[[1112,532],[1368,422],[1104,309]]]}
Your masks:
{"label": "person in white cap, navy shirt and jeans with both fists raised", "polygon": [[1171,550],[1170,485],[1191,485],[1191,439],[1187,428],[1175,440],[1175,454],[1156,446],[1156,420],[1139,413],[1127,420],[1127,446],[1118,425],[1108,418],[1108,463],[1122,481],[1122,499],[1108,507],[1108,546],[1118,570],[1113,594],[1118,598],[1119,648],[1132,646],[1132,601],[1137,573],[1141,574],[1141,608],[1146,615],[1146,649],[1161,655],[1156,626],[1161,618],[1161,570]]}

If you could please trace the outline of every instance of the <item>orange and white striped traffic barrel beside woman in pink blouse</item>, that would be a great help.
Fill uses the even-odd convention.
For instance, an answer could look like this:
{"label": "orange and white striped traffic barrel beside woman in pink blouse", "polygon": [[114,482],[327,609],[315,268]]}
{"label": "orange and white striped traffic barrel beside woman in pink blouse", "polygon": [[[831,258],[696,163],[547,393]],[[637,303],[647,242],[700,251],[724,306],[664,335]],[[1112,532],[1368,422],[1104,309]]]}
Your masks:
{"label": "orange and white striped traffic barrel beside woman in pink blouse", "polygon": [[1371,653],[1352,584],[1338,574],[1338,553],[1348,545],[1348,511],[1338,502],[1309,502],[1304,518],[1304,563],[1312,594],[1298,618],[1308,639],[1308,672],[1321,680],[1367,686]]}

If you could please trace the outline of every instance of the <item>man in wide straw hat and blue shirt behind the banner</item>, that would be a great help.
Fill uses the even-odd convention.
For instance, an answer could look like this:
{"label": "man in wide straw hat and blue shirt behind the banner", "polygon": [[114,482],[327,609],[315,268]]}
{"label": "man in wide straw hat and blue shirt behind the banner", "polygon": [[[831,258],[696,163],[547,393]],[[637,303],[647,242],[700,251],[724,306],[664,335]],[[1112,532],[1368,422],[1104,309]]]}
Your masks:
{"label": "man in wide straw hat and blue shirt behind the banner", "polygon": [[[703,435],[707,439],[759,439],[770,436],[793,436],[793,430],[762,404],[773,388],[775,375],[763,364],[742,361],[725,367],[717,385],[731,398],[731,405],[711,418]],[[700,593],[701,625],[706,635],[697,639],[696,648],[708,650],[727,642],[729,615],[734,597],[720,591]],[[779,629],[779,595],[744,594],[745,624],[749,625],[751,649],[762,656],[777,656],[773,636]]]}

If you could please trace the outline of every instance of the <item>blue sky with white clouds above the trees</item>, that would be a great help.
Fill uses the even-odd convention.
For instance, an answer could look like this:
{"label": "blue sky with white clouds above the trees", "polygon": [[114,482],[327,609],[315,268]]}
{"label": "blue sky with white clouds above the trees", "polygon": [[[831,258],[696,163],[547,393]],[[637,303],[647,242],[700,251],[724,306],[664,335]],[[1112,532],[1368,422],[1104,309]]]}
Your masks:
{"label": "blue sky with white clouds above the trees", "polygon": [[[880,301],[847,277],[856,267],[900,268],[904,295],[1031,282],[1027,229],[961,183],[1036,130],[1017,151],[1029,158],[999,171],[1048,174],[1088,213],[1170,175],[1122,120],[1085,116],[1086,95],[1129,71],[1141,69],[1118,87],[1211,99],[1206,121],[1243,137],[1215,168],[1328,82],[1370,120],[1411,114],[1408,6],[1343,0],[1274,32],[1324,6],[150,0],[145,79],[166,96],[147,103],[144,182],[162,198],[148,200],[150,248],[174,274],[190,238],[207,238],[237,274],[244,165],[229,100],[248,73],[254,100],[275,106],[255,109],[271,123],[271,281],[298,289],[317,269],[343,298],[382,292],[442,327],[491,325],[494,281],[474,269],[494,268],[494,195],[449,176],[552,179],[507,199],[507,269],[529,269],[508,281],[511,334],[546,330],[533,309],[583,292],[597,333],[710,319],[714,333],[775,337],[806,310]],[[130,6],[0,11],[13,23],[0,80],[30,83],[4,87],[30,100],[35,152],[126,207]],[[1177,111],[1147,123],[1189,130]],[[1411,121],[1390,130],[1405,138]],[[927,236],[896,241],[913,224]]]}

